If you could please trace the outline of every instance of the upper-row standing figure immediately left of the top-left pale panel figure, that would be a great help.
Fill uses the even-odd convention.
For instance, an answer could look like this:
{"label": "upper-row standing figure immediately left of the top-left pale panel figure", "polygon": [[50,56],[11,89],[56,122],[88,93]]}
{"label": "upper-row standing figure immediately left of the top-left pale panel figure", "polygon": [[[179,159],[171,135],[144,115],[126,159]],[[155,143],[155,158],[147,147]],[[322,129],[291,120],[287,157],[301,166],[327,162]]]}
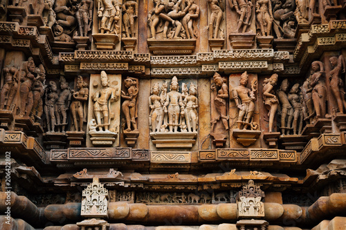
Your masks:
{"label": "upper-row standing figure immediately left of the top-left pale panel figure", "polygon": [[78,21],[79,35],[87,37],[88,32],[91,31],[91,23],[93,21],[93,1],[82,0],[77,4],[77,12],[75,17]]}

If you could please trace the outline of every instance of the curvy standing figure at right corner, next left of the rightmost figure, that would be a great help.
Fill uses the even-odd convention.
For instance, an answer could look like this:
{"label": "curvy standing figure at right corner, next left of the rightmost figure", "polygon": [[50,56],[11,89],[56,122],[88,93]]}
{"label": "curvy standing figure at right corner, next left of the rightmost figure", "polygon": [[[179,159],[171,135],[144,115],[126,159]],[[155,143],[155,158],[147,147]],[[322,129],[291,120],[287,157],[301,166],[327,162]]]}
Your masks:
{"label": "curvy standing figure at right corner, next left of the rightmost figure", "polygon": [[327,88],[325,86],[325,69],[321,61],[313,61],[311,64],[311,87],[313,107],[316,111],[316,118],[324,118],[326,115]]}

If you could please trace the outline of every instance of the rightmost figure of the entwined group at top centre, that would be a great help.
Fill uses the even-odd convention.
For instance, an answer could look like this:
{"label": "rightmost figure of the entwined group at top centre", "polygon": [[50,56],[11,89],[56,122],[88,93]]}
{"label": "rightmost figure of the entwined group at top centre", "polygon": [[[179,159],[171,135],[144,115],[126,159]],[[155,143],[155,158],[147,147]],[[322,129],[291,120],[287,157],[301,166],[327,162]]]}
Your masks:
{"label": "rightmost figure of the entwined group at top centre", "polygon": [[186,14],[183,19],[183,27],[186,32],[186,37],[188,39],[194,39],[197,37],[197,19],[199,17],[199,6],[197,6],[195,0],[189,0],[189,2],[192,2],[188,14]]}

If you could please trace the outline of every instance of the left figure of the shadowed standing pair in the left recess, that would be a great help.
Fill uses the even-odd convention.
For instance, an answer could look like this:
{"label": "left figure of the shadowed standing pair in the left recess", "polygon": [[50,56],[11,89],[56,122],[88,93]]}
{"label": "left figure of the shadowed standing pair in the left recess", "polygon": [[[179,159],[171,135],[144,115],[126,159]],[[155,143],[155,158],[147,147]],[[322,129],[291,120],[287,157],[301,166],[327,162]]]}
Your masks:
{"label": "left figure of the shadowed standing pair in the left recess", "polygon": [[48,90],[46,93],[46,103],[44,112],[46,113],[48,132],[55,131],[55,103],[59,98],[57,95],[57,84],[53,81],[49,82]]}

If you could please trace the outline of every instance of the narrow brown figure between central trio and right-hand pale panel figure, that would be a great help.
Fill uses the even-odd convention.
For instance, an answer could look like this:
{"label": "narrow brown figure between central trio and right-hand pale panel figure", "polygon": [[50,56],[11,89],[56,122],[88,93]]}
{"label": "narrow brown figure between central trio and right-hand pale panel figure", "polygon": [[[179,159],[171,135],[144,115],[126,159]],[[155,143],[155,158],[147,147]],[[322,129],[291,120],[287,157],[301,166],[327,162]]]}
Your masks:
{"label": "narrow brown figure between central trio and right-hand pale panel figure", "polygon": [[214,131],[215,124],[221,119],[222,124],[228,130],[228,115],[226,108],[226,100],[228,99],[228,86],[226,78],[221,77],[219,73],[214,74],[214,84],[211,86],[212,93],[214,93],[214,104],[219,116],[212,121],[212,131]]}

